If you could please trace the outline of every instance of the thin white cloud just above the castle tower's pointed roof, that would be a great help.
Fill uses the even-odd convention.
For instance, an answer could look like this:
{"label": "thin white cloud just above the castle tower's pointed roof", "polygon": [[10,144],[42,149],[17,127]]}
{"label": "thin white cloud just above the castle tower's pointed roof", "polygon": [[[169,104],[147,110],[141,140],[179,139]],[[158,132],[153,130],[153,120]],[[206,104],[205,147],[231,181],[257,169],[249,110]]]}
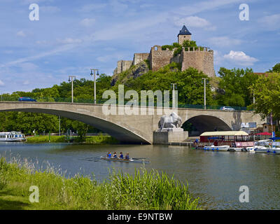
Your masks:
{"label": "thin white cloud just above the castle tower's pointed roof", "polygon": [[179,27],[182,27],[183,24],[186,24],[187,27],[198,27],[207,30],[216,29],[214,25],[211,25],[211,22],[197,16],[188,16],[186,18],[174,18],[174,24]]}

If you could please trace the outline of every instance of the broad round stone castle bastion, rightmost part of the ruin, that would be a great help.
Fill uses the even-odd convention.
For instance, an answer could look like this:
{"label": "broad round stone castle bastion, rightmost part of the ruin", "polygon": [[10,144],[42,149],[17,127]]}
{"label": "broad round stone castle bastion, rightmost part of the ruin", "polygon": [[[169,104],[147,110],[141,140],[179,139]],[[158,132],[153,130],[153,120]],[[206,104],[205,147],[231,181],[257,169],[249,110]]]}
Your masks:
{"label": "broad round stone castle bastion, rightmost part of the ruin", "polygon": [[203,71],[207,76],[214,77],[214,52],[208,48],[188,48],[181,52],[182,71],[193,67],[199,71]]}

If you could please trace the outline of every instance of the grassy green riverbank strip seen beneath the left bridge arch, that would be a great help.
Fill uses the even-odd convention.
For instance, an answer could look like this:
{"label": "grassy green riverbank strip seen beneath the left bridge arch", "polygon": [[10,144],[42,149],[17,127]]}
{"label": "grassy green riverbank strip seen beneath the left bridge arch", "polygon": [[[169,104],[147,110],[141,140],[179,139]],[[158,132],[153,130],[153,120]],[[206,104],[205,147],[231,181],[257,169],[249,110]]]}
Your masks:
{"label": "grassy green riverbank strip seen beneath the left bridge arch", "polygon": [[101,145],[101,144],[118,144],[118,140],[111,137],[111,136],[87,136],[85,140],[81,140],[78,137],[72,137],[72,139],[66,139],[66,136],[36,136],[36,137],[27,137],[27,143],[48,143],[48,142],[55,142],[55,143],[63,143],[63,142],[75,142],[81,144],[94,144],[94,145]]}

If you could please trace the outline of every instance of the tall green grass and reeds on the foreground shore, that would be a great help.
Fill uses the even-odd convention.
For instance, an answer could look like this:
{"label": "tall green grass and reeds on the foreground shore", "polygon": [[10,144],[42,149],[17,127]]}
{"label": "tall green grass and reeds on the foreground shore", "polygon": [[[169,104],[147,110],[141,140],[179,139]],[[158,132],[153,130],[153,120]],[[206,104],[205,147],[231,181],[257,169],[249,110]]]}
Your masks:
{"label": "tall green grass and reeds on the foreground shore", "polygon": [[[35,167],[26,159],[0,158],[0,209],[200,209],[199,198],[190,196],[188,185],[144,167],[134,175],[113,170],[101,183],[80,174],[67,179],[51,166]],[[30,186],[38,187],[39,202],[29,202]]]}

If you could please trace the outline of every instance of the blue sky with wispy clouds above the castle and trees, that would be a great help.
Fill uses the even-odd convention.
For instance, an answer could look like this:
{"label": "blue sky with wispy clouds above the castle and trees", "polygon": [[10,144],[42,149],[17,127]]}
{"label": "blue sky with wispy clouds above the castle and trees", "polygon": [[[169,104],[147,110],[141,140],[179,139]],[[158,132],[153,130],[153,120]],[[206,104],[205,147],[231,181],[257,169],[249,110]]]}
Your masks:
{"label": "blue sky with wispy clouds above the castle and trees", "polygon": [[[39,20],[29,20],[29,5]],[[249,20],[239,20],[239,5]],[[186,24],[214,67],[264,72],[280,62],[280,3],[269,0],[1,0],[0,93],[51,87],[90,69],[112,75],[119,59],[172,44]]]}

